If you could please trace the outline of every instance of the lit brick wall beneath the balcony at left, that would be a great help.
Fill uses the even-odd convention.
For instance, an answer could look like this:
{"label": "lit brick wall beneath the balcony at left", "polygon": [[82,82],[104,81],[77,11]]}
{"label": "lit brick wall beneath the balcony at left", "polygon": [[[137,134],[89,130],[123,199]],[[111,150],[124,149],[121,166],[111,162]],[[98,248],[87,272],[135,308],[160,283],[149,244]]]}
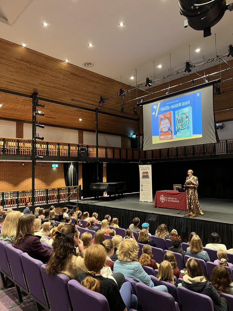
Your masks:
{"label": "lit brick wall beneath the balcony at left", "polygon": [[[52,168],[51,162],[40,162],[40,164],[35,167],[35,189],[65,187],[63,163],[57,163],[57,168]],[[0,191],[32,188],[31,162],[0,162],[0,172]]]}

